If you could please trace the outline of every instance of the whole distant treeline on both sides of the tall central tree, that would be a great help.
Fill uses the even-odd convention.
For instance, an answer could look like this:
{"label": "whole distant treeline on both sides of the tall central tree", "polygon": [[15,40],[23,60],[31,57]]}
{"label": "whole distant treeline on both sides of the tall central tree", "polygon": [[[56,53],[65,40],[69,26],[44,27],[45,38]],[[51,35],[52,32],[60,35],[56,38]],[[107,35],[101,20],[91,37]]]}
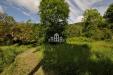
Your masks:
{"label": "whole distant treeline on both sides of the tall central tree", "polygon": [[[41,25],[28,20],[17,23],[12,16],[0,14],[0,44],[37,44],[43,41]],[[80,23],[65,29],[67,38],[87,37],[95,40],[113,39],[113,4],[101,16],[97,9],[87,9]]]}

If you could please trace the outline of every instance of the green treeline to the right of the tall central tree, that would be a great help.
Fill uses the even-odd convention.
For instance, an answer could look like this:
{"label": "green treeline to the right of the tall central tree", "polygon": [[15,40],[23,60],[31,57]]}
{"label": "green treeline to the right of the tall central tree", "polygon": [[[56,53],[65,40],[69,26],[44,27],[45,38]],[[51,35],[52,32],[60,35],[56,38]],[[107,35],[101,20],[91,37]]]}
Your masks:
{"label": "green treeline to the right of the tall central tree", "polygon": [[95,40],[113,39],[113,4],[103,16],[97,9],[87,9],[82,22],[68,26],[68,37],[83,36]]}

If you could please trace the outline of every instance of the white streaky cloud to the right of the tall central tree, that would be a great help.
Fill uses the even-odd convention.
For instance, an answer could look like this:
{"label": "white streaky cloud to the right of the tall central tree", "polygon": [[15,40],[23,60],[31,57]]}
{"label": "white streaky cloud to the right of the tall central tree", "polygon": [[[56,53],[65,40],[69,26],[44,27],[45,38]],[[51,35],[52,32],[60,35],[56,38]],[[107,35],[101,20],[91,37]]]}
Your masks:
{"label": "white streaky cloud to the right of the tall central tree", "polygon": [[[83,18],[83,12],[86,9],[92,8],[95,3],[100,3],[103,0],[66,0],[70,6],[69,23],[80,22]],[[101,14],[105,11],[105,7],[96,7]]]}

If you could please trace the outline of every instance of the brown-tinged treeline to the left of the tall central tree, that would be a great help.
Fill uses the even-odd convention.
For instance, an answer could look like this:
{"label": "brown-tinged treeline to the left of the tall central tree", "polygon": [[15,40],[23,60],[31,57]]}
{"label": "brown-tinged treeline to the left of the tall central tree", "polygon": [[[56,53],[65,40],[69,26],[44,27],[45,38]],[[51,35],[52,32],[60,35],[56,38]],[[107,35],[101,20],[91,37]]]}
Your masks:
{"label": "brown-tinged treeline to the left of the tall central tree", "polygon": [[13,17],[7,17],[10,17],[7,21],[0,20],[0,44],[31,44],[38,42],[38,24],[30,23],[30,21],[17,23]]}

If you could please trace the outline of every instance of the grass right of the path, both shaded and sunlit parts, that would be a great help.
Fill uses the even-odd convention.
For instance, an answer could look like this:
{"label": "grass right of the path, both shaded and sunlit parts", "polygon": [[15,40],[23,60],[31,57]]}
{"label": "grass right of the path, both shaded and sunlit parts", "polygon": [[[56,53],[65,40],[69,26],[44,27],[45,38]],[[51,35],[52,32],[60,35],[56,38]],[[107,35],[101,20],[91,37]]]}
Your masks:
{"label": "grass right of the path, both shaded and sunlit parts", "polygon": [[109,41],[69,38],[67,44],[45,45],[44,54],[43,69],[52,75],[113,75]]}

